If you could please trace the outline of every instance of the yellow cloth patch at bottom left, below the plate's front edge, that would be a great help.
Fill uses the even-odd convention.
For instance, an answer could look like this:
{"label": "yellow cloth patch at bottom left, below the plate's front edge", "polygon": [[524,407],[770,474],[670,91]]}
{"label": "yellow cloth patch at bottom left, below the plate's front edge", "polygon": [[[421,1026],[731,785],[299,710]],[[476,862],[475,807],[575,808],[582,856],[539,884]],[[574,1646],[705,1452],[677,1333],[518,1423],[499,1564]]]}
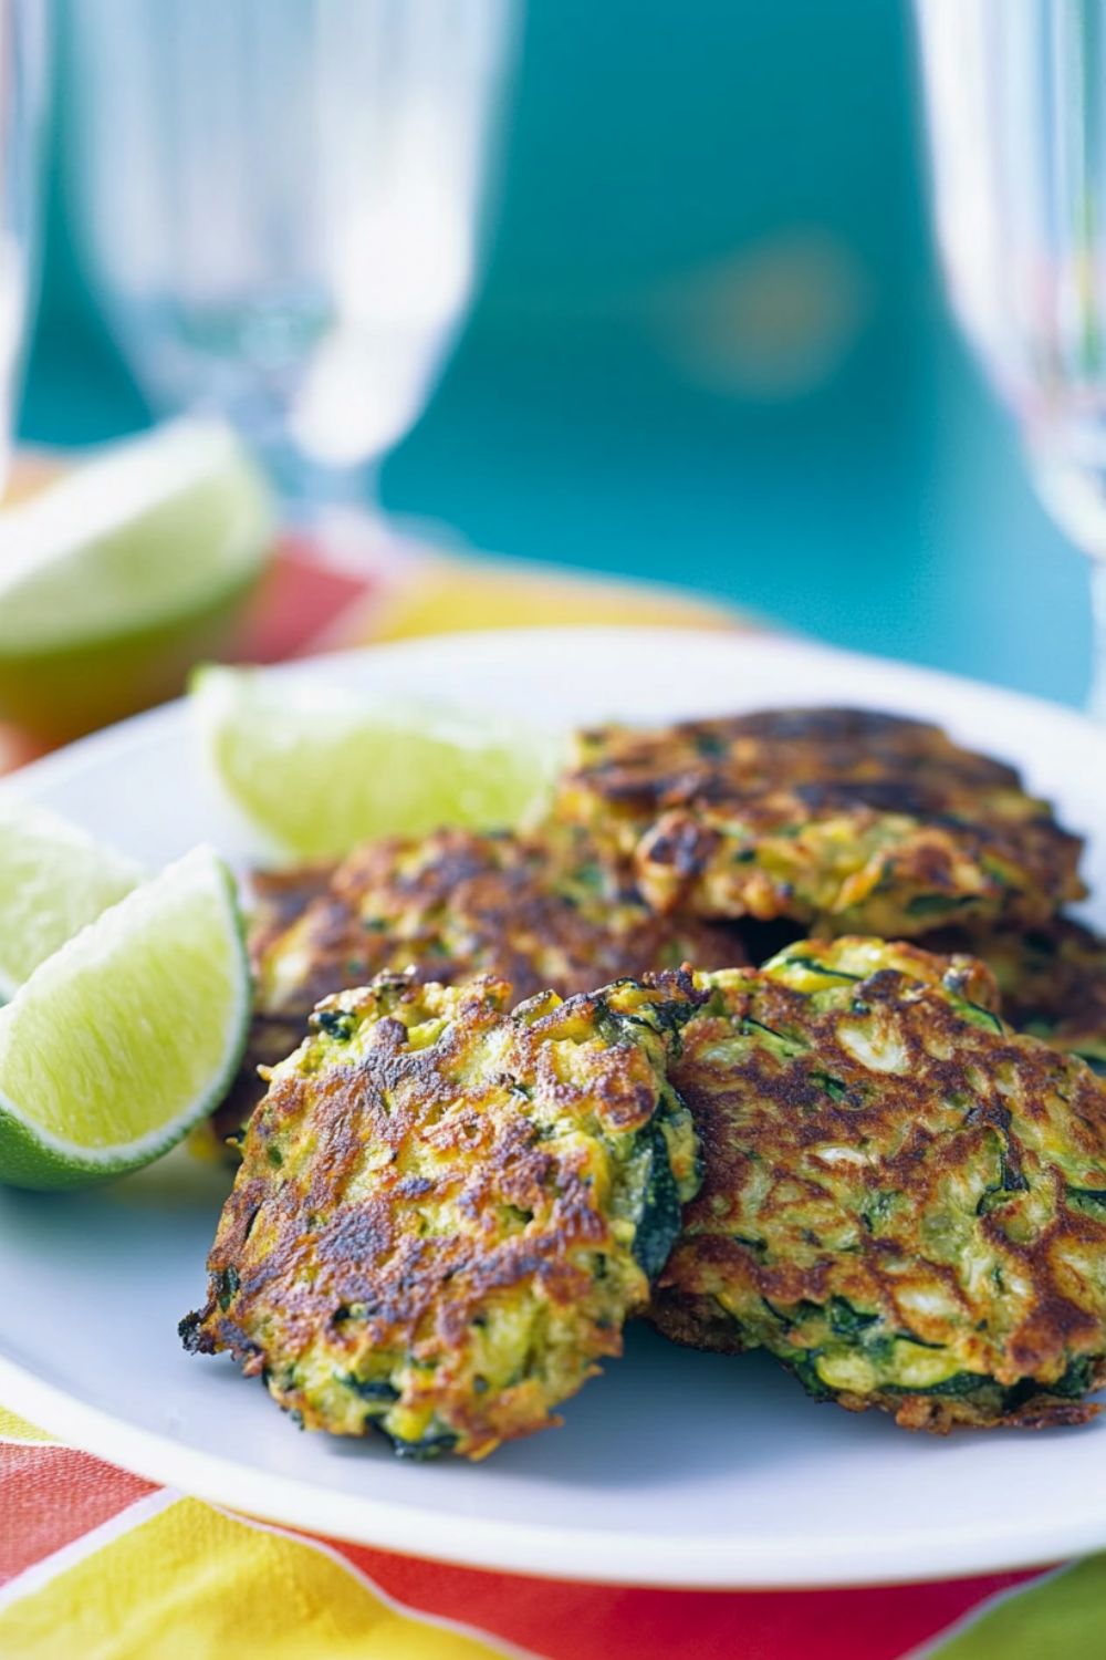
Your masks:
{"label": "yellow cloth patch at bottom left, below the plate's front edge", "polygon": [[[139,1511],[139,1514],[143,1514]],[[119,1517],[126,1524],[126,1516]],[[177,1499],[0,1612],[3,1660],[502,1660],[325,1547]],[[60,1633],[65,1640],[60,1647]]]}

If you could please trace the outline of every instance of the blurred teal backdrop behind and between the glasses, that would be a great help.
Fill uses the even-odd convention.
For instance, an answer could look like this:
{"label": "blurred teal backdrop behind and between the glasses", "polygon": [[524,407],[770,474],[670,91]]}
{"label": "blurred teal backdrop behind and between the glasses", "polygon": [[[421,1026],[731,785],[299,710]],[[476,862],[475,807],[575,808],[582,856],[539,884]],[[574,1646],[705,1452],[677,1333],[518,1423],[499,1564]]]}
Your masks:
{"label": "blurred teal backdrop behind and between the glasses", "polygon": [[[65,103],[22,430],[81,445],[148,415]],[[385,503],[1079,702],[1084,563],[945,317],[915,105],[892,0],[532,0],[483,287]]]}

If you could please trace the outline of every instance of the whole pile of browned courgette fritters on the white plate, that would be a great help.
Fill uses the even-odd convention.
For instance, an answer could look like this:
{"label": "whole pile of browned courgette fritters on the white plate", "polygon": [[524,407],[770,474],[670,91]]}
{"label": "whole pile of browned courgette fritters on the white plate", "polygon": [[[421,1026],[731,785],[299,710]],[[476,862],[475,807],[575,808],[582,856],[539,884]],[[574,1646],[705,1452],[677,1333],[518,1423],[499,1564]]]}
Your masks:
{"label": "whole pile of browned courgette fritters on the white plate", "polygon": [[[272,1074],[186,1340],[307,1424],[481,1456],[655,1282],[677,1341],[763,1346],[851,1409],[1081,1421],[1106,943],[1063,915],[1079,848],[934,725],[778,710],[580,734],[532,835],[262,880],[255,1054],[370,984]],[[741,966],[781,935],[814,938]]]}

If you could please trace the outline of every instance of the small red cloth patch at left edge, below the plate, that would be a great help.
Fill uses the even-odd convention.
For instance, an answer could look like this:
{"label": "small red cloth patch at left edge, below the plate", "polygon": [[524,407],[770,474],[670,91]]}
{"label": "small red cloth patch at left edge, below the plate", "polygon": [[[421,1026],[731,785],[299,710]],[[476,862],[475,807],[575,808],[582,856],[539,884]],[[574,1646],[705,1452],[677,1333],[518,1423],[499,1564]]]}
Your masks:
{"label": "small red cloth patch at left edge, below the plate", "polygon": [[0,1585],[156,1489],[71,1448],[0,1446]]}

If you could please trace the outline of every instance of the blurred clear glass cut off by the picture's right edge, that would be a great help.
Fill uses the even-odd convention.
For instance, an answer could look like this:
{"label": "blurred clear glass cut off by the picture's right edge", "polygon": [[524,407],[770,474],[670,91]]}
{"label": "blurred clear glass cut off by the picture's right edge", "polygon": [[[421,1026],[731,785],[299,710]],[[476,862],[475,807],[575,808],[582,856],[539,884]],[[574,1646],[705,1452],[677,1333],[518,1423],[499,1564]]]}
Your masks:
{"label": "blurred clear glass cut off by the picture's right edge", "polygon": [[915,17],[952,305],[1041,500],[1094,559],[1106,719],[1106,0],[915,0]]}

